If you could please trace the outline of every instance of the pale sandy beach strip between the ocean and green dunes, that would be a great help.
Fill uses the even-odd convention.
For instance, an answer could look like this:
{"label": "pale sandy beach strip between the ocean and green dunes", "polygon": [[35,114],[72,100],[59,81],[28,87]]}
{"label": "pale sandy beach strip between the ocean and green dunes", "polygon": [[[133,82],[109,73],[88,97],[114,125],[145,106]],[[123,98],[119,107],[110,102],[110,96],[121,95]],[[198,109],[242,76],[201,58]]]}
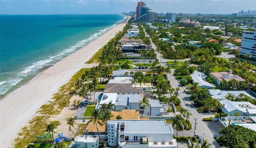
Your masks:
{"label": "pale sandy beach strip between the ocean and green dunes", "polygon": [[125,24],[126,22],[120,23],[86,47],[42,72],[42,74],[50,75],[39,75],[22,88],[0,100],[0,148],[10,147],[22,127],[28,124],[40,107],[49,101],[54,93],[58,92],[60,86],[66,84],[78,70],[98,65],[85,64],[85,62],[116,33],[122,31]]}

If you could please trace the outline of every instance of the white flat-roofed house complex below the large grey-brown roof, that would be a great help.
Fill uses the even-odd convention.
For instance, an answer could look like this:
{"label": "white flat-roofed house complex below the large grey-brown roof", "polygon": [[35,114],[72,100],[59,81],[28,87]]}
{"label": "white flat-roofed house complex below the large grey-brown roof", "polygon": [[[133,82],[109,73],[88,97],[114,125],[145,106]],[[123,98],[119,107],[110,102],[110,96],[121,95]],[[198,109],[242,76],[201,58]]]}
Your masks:
{"label": "white flat-roofed house complex below the large grey-brown roof", "polygon": [[143,105],[138,106],[140,100],[142,100],[141,94],[103,93],[100,102],[96,105],[96,109],[100,108],[103,103],[112,102],[116,111],[124,109],[139,110],[140,113],[144,111],[143,115],[145,116],[162,116],[164,113],[164,106],[160,104],[159,100],[148,99],[150,105],[146,105],[146,109]]}

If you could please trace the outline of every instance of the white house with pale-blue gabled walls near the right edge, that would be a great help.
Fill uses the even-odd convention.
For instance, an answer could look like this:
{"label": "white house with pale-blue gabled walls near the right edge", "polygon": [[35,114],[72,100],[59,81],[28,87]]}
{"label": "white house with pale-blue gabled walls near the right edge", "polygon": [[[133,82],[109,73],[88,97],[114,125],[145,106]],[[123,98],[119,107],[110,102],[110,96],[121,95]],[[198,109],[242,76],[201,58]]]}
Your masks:
{"label": "white house with pale-blue gabled walls near the right edge", "polygon": [[[249,115],[248,109],[256,109],[256,105],[245,101],[230,101],[228,99],[219,100],[222,104],[222,111],[228,116],[236,116],[235,113],[239,113],[239,116],[252,116]],[[250,110],[252,111],[252,110]]]}

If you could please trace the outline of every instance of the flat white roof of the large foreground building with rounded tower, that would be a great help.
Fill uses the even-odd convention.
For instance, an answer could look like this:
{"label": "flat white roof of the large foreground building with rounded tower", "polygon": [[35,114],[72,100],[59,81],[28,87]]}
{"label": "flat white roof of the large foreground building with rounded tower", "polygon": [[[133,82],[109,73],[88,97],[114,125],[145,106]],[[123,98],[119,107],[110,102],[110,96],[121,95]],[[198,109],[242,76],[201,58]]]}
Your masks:
{"label": "flat white roof of the large foreground building with rounded tower", "polygon": [[[119,120],[120,121],[120,120]],[[116,123],[118,120],[109,120]],[[165,120],[122,120],[125,123],[124,133],[173,133],[171,125],[166,125]]]}

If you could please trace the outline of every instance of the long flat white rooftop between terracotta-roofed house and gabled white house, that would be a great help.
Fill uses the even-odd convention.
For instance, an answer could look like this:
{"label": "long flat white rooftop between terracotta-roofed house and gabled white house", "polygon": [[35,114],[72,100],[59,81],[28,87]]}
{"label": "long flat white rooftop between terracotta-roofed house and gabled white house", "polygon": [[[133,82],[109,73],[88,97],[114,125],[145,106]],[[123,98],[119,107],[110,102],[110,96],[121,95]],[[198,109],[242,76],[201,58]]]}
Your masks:
{"label": "long flat white rooftop between terracotta-roofed house and gabled white house", "polygon": [[234,97],[238,97],[240,93],[244,93],[251,99],[255,99],[251,95],[249,95],[247,92],[243,90],[208,90],[208,93],[212,95],[212,98],[215,99],[226,99],[225,96],[228,95],[228,93],[234,94]]}

